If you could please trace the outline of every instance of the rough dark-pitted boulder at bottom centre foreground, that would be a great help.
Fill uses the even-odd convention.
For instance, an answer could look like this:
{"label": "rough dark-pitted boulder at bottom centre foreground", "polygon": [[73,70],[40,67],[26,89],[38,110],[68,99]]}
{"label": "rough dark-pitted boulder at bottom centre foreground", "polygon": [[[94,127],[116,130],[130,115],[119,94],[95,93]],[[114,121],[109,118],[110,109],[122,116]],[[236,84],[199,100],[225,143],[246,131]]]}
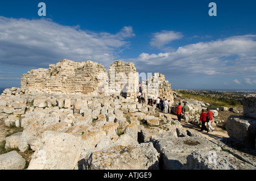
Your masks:
{"label": "rough dark-pitted boulder at bottom centre foreground", "polygon": [[159,169],[157,155],[152,143],[137,146],[112,146],[90,154],[85,161],[85,167],[89,170]]}

